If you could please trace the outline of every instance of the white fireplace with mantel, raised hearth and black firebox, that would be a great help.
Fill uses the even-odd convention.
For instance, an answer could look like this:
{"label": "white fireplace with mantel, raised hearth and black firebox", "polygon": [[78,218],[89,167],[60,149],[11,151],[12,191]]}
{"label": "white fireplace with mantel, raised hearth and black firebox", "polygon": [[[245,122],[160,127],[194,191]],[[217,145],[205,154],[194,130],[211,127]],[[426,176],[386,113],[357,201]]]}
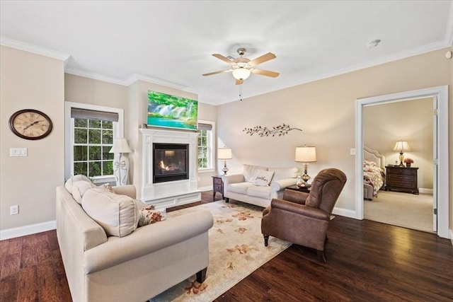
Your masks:
{"label": "white fireplace with mantel, raised hearth and black firebox", "polygon": [[139,129],[142,134],[140,199],[157,209],[201,200],[197,132]]}

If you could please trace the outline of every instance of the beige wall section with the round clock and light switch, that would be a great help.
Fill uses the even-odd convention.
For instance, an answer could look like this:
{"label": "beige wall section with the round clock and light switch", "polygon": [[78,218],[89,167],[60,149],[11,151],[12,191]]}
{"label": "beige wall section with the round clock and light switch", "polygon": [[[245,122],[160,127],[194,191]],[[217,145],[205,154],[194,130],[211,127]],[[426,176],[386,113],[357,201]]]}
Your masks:
{"label": "beige wall section with the round clock and light switch", "polygon": [[[44,139],[16,137],[9,117],[21,109],[47,114],[53,129]],[[64,62],[0,48],[0,229],[55,220],[55,187],[64,183]],[[10,157],[10,148],[28,156]],[[11,216],[11,205],[19,214]]]}

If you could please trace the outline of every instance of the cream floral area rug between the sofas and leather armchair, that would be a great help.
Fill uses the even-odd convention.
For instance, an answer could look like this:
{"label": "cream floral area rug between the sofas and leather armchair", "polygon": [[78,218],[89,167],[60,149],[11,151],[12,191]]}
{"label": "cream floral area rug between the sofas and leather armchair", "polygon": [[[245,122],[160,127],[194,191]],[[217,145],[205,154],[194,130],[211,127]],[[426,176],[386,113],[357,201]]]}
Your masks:
{"label": "cream floral area rug between the sofas and leather armchair", "polygon": [[247,277],[261,265],[291,245],[270,237],[264,246],[261,234],[263,208],[223,200],[168,212],[167,219],[181,214],[207,209],[214,217],[209,231],[210,264],[205,282],[198,284],[195,275],[152,298],[161,301],[212,301]]}

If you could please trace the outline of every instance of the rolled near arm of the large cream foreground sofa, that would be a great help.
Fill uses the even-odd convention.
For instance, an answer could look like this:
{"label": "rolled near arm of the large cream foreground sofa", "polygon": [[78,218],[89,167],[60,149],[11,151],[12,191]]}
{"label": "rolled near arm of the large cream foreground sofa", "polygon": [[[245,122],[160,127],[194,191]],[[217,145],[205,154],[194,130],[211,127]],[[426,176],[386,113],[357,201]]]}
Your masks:
{"label": "rolled near arm of the large cream foreground sofa", "polygon": [[109,237],[108,241],[87,250],[84,256],[86,274],[151,254],[195,236],[212,227],[210,211],[201,210],[137,228],[125,237]]}

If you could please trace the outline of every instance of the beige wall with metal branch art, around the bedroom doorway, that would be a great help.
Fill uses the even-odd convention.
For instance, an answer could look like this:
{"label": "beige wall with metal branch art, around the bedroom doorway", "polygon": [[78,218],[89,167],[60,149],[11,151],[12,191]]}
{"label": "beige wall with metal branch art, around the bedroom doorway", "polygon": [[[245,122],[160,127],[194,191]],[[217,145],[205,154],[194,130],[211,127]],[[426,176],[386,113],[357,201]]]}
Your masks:
{"label": "beige wall with metal branch art, around the bedroom doorway", "polygon": [[[243,163],[269,166],[299,166],[294,163],[294,148],[316,146],[318,161],[309,165],[309,174],[336,167],[348,176],[337,207],[355,211],[355,102],[357,98],[412,91],[442,85],[449,87],[452,103],[452,62],[444,50],[437,50],[396,62],[350,72],[300,86],[218,106],[219,141],[233,150],[229,161],[231,173]],[[246,85],[247,83],[244,83]],[[452,105],[449,120],[452,120]],[[285,137],[252,137],[242,129],[257,125],[273,127],[286,123],[303,129]],[[449,124],[449,154],[452,158],[453,123]],[[450,163],[452,175],[452,163]],[[449,209],[453,209],[453,177],[450,176]],[[450,228],[452,226],[450,214]]]}

